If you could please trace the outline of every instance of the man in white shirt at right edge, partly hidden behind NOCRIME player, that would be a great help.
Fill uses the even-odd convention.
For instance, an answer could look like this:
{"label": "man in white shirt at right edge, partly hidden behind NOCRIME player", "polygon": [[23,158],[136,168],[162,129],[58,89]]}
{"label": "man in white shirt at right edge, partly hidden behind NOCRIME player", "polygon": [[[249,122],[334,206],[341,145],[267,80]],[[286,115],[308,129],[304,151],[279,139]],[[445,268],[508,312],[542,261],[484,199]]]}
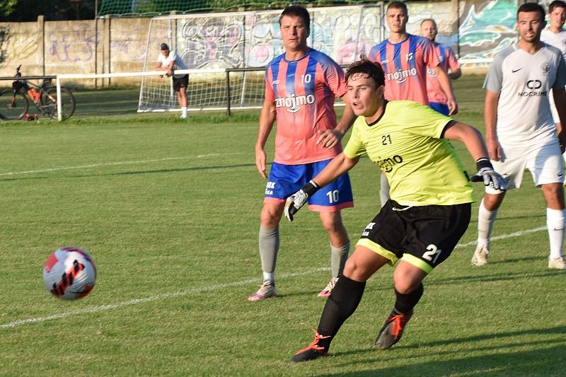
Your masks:
{"label": "man in white shirt at right edge, partly hidden behind NOCRIME player", "polygon": [[[541,33],[541,40],[554,46],[562,52],[562,57],[566,61],[566,30],[564,30],[564,22],[566,21],[566,2],[555,0],[548,6],[548,18],[550,26]],[[562,127],[558,118],[558,111],[553,101],[553,91],[550,91],[550,109],[553,112],[553,120],[556,127]],[[566,158],[566,156],[565,156]]]}

